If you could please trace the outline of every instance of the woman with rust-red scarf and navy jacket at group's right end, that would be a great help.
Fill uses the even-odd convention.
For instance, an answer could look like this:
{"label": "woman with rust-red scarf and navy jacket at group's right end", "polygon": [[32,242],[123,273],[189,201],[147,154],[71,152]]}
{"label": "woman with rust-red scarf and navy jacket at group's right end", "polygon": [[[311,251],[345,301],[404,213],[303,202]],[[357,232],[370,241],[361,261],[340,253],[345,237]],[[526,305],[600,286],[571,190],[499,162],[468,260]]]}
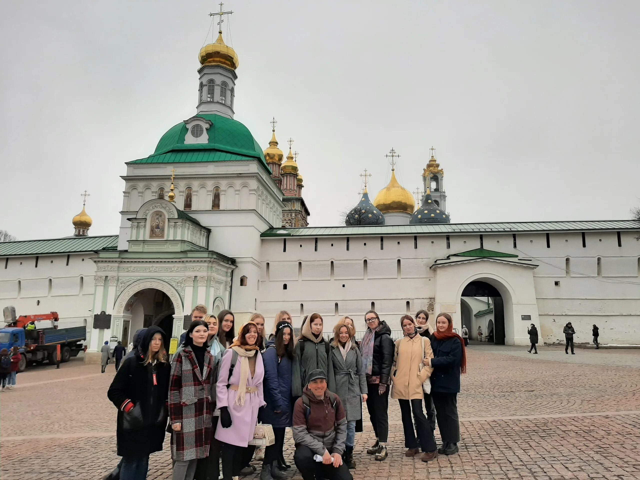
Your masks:
{"label": "woman with rust-red scarf and navy jacket at group's right end", "polygon": [[453,320],[449,314],[438,314],[436,331],[431,339],[433,358],[424,364],[433,368],[431,373],[431,397],[436,407],[436,419],[442,445],[438,453],[458,453],[460,422],[458,420],[458,393],[460,372],[467,372],[465,342],[453,332]]}

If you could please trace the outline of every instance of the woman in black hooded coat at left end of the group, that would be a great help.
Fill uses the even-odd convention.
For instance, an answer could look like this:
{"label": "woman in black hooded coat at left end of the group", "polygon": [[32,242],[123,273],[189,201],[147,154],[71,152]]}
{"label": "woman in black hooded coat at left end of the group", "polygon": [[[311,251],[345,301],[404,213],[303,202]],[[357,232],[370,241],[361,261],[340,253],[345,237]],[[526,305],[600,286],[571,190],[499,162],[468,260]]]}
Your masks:
{"label": "woman in black hooded coat at left end of the group", "polygon": [[150,326],[135,355],[127,357],[107,392],[118,408],[116,445],[121,480],[145,480],[149,455],[163,448],[171,367],[166,335]]}

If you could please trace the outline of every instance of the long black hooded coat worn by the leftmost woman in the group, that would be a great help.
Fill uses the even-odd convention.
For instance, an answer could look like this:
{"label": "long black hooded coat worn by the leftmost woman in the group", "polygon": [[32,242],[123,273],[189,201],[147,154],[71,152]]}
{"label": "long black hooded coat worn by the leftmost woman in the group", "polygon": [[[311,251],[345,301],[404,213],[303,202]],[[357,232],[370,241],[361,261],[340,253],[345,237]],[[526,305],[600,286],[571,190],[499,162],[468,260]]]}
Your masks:
{"label": "long black hooded coat worn by the leftmost woman in the group", "polygon": [[[161,328],[147,328],[136,355],[126,358],[120,365],[107,392],[109,400],[118,409],[116,440],[119,456],[147,456],[161,451],[163,447],[171,365],[168,362],[144,365],[141,355],[148,350],[156,333],[161,333],[166,343],[166,335]],[[129,413],[124,413],[122,406],[127,400],[135,406]]]}

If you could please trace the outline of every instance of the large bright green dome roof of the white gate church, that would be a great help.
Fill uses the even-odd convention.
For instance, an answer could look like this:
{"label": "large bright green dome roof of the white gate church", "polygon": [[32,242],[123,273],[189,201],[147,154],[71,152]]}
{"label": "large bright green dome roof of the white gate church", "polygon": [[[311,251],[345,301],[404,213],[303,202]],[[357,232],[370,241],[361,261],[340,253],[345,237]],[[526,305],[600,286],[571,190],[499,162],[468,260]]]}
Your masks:
{"label": "large bright green dome roof of the white gate church", "polygon": [[188,163],[231,160],[258,160],[264,168],[271,170],[264,161],[262,148],[247,127],[226,116],[212,113],[196,115],[211,122],[207,129],[208,143],[188,143],[184,137],[187,126],[184,122],[173,125],[160,139],[156,151],[143,159],[129,163]]}

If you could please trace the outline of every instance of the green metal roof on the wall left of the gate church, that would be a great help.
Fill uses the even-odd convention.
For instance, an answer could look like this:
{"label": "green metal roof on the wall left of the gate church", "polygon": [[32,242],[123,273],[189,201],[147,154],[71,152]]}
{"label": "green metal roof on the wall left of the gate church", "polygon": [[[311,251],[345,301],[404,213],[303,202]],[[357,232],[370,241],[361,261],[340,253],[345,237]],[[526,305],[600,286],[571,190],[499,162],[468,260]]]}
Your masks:
{"label": "green metal roof on the wall left of the gate church", "polygon": [[98,250],[112,250],[117,246],[117,235],[24,240],[0,243],[0,257],[44,255],[45,253],[97,252]]}

